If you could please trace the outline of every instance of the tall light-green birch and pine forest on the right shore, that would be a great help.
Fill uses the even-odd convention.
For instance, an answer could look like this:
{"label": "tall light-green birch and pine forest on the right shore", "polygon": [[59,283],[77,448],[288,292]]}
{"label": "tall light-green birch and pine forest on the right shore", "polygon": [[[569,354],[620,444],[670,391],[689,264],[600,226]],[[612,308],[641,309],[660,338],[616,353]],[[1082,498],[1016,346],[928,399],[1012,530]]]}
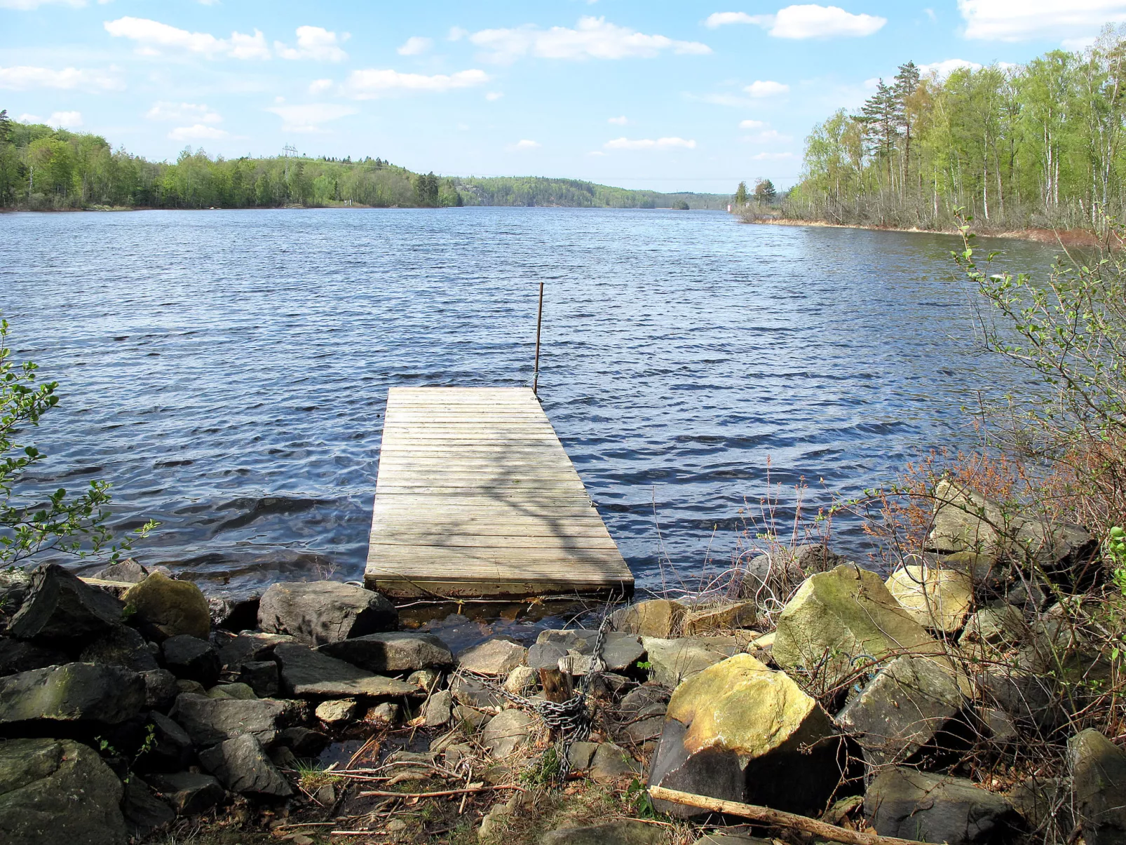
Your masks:
{"label": "tall light-green birch and pine forest on the right shore", "polygon": [[858,113],[814,126],[780,213],[919,229],[948,229],[960,214],[983,231],[1121,219],[1124,61],[1126,27],[1107,27],[1082,52],[1024,65],[944,79],[906,62]]}

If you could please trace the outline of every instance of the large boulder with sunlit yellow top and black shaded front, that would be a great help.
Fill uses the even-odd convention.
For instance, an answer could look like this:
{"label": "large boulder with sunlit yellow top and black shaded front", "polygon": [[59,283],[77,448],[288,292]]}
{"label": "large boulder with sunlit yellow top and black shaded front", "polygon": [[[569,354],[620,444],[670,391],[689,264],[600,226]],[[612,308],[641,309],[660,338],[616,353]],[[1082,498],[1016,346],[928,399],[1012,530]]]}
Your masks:
{"label": "large boulder with sunlit yellow top and black shaded front", "polygon": [[[785,673],[736,655],[672,693],[649,783],[779,810],[820,810],[840,779],[832,736],[828,713]],[[655,803],[674,816],[699,812]]]}

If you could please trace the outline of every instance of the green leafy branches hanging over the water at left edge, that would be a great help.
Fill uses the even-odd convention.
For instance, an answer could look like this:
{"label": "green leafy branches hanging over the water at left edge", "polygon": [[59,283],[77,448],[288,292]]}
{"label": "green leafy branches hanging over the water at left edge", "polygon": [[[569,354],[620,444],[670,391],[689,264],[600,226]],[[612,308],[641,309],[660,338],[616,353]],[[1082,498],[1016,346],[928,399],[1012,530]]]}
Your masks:
{"label": "green leafy branches hanging over the water at left edge", "polygon": [[[14,362],[7,338],[8,321],[0,320],[0,566],[48,550],[80,557],[107,554],[116,561],[129,541],[114,544],[106,525],[108,483],[91,481],[75,496],[62,488],[41,491],[33,486],[27,490],[28,477],[46,455],[23,437],[59,403],[59,384],[37,381],[32,362]],[[150,522],[137,533],[144,536],[154,526]]]}

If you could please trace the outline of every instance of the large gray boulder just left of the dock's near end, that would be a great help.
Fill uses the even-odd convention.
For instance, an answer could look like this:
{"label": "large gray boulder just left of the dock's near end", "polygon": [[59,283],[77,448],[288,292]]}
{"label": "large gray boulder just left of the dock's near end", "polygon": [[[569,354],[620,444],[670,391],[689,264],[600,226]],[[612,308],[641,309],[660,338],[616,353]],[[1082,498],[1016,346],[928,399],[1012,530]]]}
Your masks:
{"label": "large gray boulder just left of the dock's near end", "polygon": [[399,612],[382,595],[340,581],[275,584],[258,606],[262,631],[307,646],[393,631],[397,624]]}

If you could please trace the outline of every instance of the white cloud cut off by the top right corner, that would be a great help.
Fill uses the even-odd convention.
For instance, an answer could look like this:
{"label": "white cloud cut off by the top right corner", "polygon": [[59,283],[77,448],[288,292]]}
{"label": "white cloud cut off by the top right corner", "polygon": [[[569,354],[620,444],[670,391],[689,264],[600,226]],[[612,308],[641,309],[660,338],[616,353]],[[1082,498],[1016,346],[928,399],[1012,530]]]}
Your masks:
{"label": "white cloud cut off by the top right corner", "polygon": [[1126,21],[1124,0],[958,0],[958,11],[965,36],[982,41],[1080,37]]}

